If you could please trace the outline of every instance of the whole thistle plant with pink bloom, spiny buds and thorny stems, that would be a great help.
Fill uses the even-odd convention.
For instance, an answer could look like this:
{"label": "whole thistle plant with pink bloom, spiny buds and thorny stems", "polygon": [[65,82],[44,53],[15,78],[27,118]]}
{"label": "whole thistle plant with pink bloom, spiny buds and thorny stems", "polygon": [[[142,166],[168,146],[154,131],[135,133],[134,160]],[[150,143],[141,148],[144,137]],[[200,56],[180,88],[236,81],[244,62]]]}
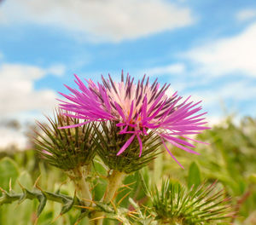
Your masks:
{"label": "whole thistle plant with pink bloom, spiny buds and thorny stems", "polygon": [[[79,89],[66,86],[72,94],[61,94],[65,99],[60,100],[60,109],[48,118],[49,124],[38,123],[41,131],[35,139],[42,159],[73,181],[73,196],[50,193],[38,185],[34,190],[22,186],[23,193],[2,190],[0,205],[38,199],[39,216],[47,201],[55,201],[62,204],[60,216],[73,209],[80,211],[76,224],[84,217],[86,224],[94,225],[103,224],[104,219],[104,224],[108,220],[112,224],[218,224],[230,218],[223,193],[212,193],[212,186],[186,190],[166,180],[159,191],[138,176],[135,182],[145,191],[145,205],[129,193],[118,197],[131,189],[132,183],[123,183],[125,177],[147,167],[164,149],[181,167],[172,146],[198,154],[190,141],[200,141],[189,135],[209,129],[202,118],[205,113],[200,113],[201,102],[182,100],[177,92],[169,96],[169,84],[160,87],[157,79],[149,84],[146,76],[137,84],[123,73],[119,83],[110,76],[102,77],[102,84],[86,80],[87,85],[75,78]],[[96,196],[96,188],[102,190],[102,197]],[[121,206],[129,197],[130,207]]]}

